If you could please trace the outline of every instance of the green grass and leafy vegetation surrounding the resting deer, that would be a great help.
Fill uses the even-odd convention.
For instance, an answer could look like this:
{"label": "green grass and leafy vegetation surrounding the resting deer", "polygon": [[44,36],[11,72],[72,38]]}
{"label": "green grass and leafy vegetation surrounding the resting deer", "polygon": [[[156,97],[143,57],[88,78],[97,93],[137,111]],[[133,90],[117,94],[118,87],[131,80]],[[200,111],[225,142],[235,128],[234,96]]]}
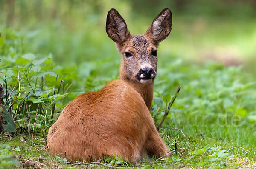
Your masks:
{"label": "green grass and leafy vegetation surrounding the resting deer", "polygon": [[[175,149],[175,139],[178,144],[171,158],[154,164],[175,162],[173,167],[236,168],[246,161],[247,152],[250,164],[246,165],[255,167],[256,49],[253,45],[256,44],[256,23],[255,10],[250,3],[195,1],[178,5],[175,1],[163,1],[156,7],[151,1],[143,6],[135,1],[69,2],[63,0],[56,4],[44,0],[41,4],[44,12],[39,19],[40,14],[34,8],[36,1],[17,0],[12,28],[0,25],[0,72],[3,72],[0,83],[6,91],[4,79],[7,79],[7,89],[11,93],[19,82],[11,96],[17,133],[1,136],[0,144],[11,147],[1,147],[0,159],[15,164],[12,155],[21,154],[36,161],[44,158],[46,162],[41,162],[47,165],[74,166],[63,163],[65,159],[49,155],[45,142],[38,139],[42,139],[44,127],[49,129],[68,102],[81,93],[100,90],[119,77],[121,57],[105,33],[107,11],[117,8],[131,33],[143,34],[162,8],[169,6],[173,27],[158,48],[151,114],[158,125],[164,114],[164,104],[158,93],[172,96],[177,87],[182,86],[160,129],[169,149]],[[59,10],[55,11],[55,5]],[[27,10],[21,10],[25,8]],[[140,10],[143,8],[147,10]],[[6,12],[0,14],[1,23],[6,23]],[[237,63],[242,64],[233,66]],[[19,75],[23,78],[17,80]],[[64,82],[60,85],[61,79]],[[23,104],[28,93],[27,105],[33,103],[31,129],[37,107],[41,107],[35,123],[35,138],[38,139],[28,139],[29,121]],[[182,129],[186,137],[173,128]],[[21,137],[27,142],[21,142]],[[237,146],[246,152],[241,148],[231,149]],[[194,156],[183,159],[189,154]],[[232,155],[235,156],[229,158]],[[180,159],[183,160],[178,161]],[[108,158],[102,163],[112,165],[113,161]],[[152,161],[137,165],[149,165]],[[126,162],[118,159],[115,164],[126,165]],[[9,166],[3,164],[3,167]],[[170,165],[154,167],[169,168]]]}

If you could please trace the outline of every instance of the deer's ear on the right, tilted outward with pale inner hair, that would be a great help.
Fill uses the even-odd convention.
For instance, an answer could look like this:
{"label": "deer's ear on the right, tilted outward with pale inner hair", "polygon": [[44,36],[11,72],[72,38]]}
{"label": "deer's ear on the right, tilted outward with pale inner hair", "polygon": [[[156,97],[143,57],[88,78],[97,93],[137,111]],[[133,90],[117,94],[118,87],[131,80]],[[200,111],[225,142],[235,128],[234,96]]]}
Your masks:
{"label": "deer's ear on the right, tilted outward with pale inner hair", "polygon": [[169,8],[163,11],[153,20],[146,34],[150,35],[157,42],[166,39],[172,30],[172,12]]}

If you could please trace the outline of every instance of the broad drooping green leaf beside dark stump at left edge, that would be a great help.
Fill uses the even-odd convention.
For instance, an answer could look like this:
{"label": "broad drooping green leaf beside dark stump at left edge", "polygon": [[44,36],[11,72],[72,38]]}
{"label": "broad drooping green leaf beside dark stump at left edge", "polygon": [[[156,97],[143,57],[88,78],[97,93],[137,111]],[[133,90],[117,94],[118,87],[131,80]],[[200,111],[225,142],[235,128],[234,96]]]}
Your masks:
{"label": "broad drooping green leaf beside dark stump at left edge", "polygon": [[12,119],[12,116],[10,113],[7,111],[9,109],[9,106],[3,107],[3,121],[6,121],[7,124],[3,124],[3,129],[5,132],[15,132],[16,131],[16,126],[15,123]]}

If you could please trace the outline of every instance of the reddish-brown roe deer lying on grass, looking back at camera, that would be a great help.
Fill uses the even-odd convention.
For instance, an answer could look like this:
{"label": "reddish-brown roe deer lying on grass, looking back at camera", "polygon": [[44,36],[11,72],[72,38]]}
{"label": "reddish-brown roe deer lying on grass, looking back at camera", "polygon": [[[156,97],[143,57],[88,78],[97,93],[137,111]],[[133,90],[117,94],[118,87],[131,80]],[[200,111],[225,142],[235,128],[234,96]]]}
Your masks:
{"label": "reddish-brown roe deer lying on grass, looking back at camera", "polygon": [[115,154],[138,162],[145,154],[161,157],[169,152],[149,110],[157,74],[157,46],[171,27],[169,8],[163,9],[143,35],[131,35],[116,9],[108,12],[108,37],[123,55],[120,79],[98,92],[77,96],[62,110],[49,129],[51,154],[86,161]]}

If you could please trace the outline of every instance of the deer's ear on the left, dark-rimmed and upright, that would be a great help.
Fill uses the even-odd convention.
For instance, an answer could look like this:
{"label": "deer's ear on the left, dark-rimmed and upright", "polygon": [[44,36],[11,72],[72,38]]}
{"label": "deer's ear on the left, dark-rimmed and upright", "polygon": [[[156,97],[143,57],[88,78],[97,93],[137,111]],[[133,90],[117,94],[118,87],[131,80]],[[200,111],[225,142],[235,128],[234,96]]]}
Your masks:
{"label": "deer's ear on the left, dark-rimmed and upright", "polygon": [[116,9],[112,8],[108,11],[106,32],[108,37],[116,43],[123,42],[125,38],[130,35],[125,20],[121,17],[118,11],[116,11]]}

